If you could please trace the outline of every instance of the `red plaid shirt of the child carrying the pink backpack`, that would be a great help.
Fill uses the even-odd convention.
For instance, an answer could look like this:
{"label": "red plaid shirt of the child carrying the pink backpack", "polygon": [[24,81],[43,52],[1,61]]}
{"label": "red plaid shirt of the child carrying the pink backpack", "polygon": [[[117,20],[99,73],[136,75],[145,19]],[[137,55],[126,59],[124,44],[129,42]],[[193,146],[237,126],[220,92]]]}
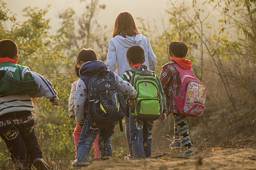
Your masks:
{"label": "red plaid shirt of the child carrying the pink backpack", "polygon": [[[180,90],[180,76],[179,70],[172,65],[172,63],[176,63],[175,61],[169,62],[164,65],[160,74],[160,81],[162,83],[162,87],[164,90],[164,95],[166,96],[166,114],[167,116],[171,113],[179,113],[175,105],[175,98],[172,94],[172,90],[174,90],[174,94],[178,95]],[[172,89],[171,89],[172,87]]]}

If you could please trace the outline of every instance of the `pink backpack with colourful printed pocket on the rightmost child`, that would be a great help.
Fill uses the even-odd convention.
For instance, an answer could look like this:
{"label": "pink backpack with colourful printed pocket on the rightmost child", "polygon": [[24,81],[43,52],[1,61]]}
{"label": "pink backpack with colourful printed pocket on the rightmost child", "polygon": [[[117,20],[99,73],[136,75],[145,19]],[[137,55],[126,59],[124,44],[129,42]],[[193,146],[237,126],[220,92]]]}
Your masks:
{"label": "pink backpack with colourful printed pocket on the rightmost child", "polygon": [[[184,70],[174,63],[180,72],[180,92],[175,96],[175,105],[181,114],[188,117],[199,117],[205,109],[207,87],[193,74],[192,69]],[[174,94],[174,91],[172,90]]]}

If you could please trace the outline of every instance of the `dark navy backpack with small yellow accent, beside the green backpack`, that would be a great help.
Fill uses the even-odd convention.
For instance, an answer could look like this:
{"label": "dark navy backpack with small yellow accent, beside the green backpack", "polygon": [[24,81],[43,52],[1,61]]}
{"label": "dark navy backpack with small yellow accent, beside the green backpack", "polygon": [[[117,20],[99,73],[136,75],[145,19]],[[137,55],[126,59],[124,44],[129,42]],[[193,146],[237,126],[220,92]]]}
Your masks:
{"label": "dark navy backpack with small yellow accent, beside the green backpack", "polygon": [[100,123],[119,121],[125,116],[126,103],[114,80],[114,73],[102,70],[92,75],[87,88],[87,113]]}

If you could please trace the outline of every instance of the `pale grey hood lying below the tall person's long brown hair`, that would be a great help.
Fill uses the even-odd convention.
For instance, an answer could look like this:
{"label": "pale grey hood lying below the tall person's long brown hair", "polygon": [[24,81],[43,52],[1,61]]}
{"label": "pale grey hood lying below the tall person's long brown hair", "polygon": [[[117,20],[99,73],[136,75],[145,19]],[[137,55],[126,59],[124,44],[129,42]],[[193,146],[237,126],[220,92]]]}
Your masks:
{"label": "pale grey hood lying below the tall person's long brown hair", "polygon": [[141,43],[141,40],[142,40],[142,35],[140,33],[138,33],[137,35],[135,36],[126,36],[126,37],[123,37],[121,35],[117,35],[115,36],[115,38],[117,39],[117,41],[124,47],[126,48],[130,48],[131,46],[134,46],[134,45],[139,45]]}

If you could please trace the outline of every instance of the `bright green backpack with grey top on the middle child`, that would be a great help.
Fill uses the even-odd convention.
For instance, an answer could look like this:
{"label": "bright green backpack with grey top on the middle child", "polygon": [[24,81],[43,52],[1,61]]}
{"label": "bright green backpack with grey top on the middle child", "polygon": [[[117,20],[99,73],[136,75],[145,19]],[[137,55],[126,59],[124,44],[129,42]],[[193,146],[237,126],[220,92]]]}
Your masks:
{"label": "bright green backpack with grey top on the middle child", "polygon": [[158,79],[147,70],[147,66],[139,66],[131,69],[133,76],[130,83],[137,91],[138,104],[131,105],[131,114],[137,120],[154,121],[163,113],[163,97],[160,93]]}

